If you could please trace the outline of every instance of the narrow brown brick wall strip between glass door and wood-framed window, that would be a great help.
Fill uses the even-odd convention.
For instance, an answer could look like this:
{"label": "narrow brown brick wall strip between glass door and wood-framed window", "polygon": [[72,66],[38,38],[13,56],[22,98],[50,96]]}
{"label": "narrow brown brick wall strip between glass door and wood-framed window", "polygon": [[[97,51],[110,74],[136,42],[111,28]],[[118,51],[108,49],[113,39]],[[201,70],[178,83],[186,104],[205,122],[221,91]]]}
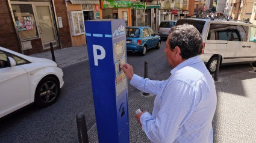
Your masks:
{"label": "narrow brown brick wall strip between glass door and wood-framed window", "polygon": [[59,28],[60,41],[62,47],[72,47],[72,41],[69,31],[69,21],[67,19],[67,10],[65,1],[54,1],[57,17],[61,17],[63,28]]}

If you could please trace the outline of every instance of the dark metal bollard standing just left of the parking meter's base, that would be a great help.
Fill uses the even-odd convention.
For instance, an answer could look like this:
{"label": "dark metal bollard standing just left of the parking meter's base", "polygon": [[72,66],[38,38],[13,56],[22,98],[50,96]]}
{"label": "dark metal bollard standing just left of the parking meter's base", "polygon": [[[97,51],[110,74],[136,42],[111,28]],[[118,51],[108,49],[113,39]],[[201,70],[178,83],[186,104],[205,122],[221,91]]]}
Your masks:
{"label": "dark metal bollard standing just left of the parking meter's base", "polygon": [[76,124],[77,124],[79,143],[89,143],[87,127],[86,127],[86,116],[84,115],[83,112],[80,112],[76,115]]}

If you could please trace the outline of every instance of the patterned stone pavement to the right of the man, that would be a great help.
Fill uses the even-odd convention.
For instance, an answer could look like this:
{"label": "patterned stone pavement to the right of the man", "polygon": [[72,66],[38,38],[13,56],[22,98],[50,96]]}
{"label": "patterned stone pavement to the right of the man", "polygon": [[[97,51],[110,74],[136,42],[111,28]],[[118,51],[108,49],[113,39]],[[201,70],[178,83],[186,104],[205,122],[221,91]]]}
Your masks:
{"label": "patterned stone pavement to the right of the man", "polygon": [[256,142],[256,73],[220,77],[215,85],[214,142]]}

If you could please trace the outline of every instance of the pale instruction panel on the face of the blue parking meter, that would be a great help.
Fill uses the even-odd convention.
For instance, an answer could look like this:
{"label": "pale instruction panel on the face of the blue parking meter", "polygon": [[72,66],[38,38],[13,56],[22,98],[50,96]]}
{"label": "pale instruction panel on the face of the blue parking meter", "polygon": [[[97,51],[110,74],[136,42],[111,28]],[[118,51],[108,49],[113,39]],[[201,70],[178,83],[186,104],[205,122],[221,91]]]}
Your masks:
{"label": "pale instruction panel on the face of the blue parking meter", "polygon": [[125,64],[125,40],[114,43],[114,64],[116,70],[116,96],[122,93],[127,88],[125,73],[120,68],[120,65]]}

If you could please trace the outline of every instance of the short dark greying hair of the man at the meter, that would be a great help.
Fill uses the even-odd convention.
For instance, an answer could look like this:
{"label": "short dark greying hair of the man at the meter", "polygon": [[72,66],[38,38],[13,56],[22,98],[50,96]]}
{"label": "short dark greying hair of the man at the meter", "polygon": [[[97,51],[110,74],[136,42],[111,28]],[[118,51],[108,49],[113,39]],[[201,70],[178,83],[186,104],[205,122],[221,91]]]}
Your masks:
{"label": "short dark greying hair of the man at the meter", "polygon": [[189,59],[202,53],[202,36],[198,29],[187,23],[183,25],[173,26],[170,30],[170,49],[176,46],[181,49],[183,59]]}

